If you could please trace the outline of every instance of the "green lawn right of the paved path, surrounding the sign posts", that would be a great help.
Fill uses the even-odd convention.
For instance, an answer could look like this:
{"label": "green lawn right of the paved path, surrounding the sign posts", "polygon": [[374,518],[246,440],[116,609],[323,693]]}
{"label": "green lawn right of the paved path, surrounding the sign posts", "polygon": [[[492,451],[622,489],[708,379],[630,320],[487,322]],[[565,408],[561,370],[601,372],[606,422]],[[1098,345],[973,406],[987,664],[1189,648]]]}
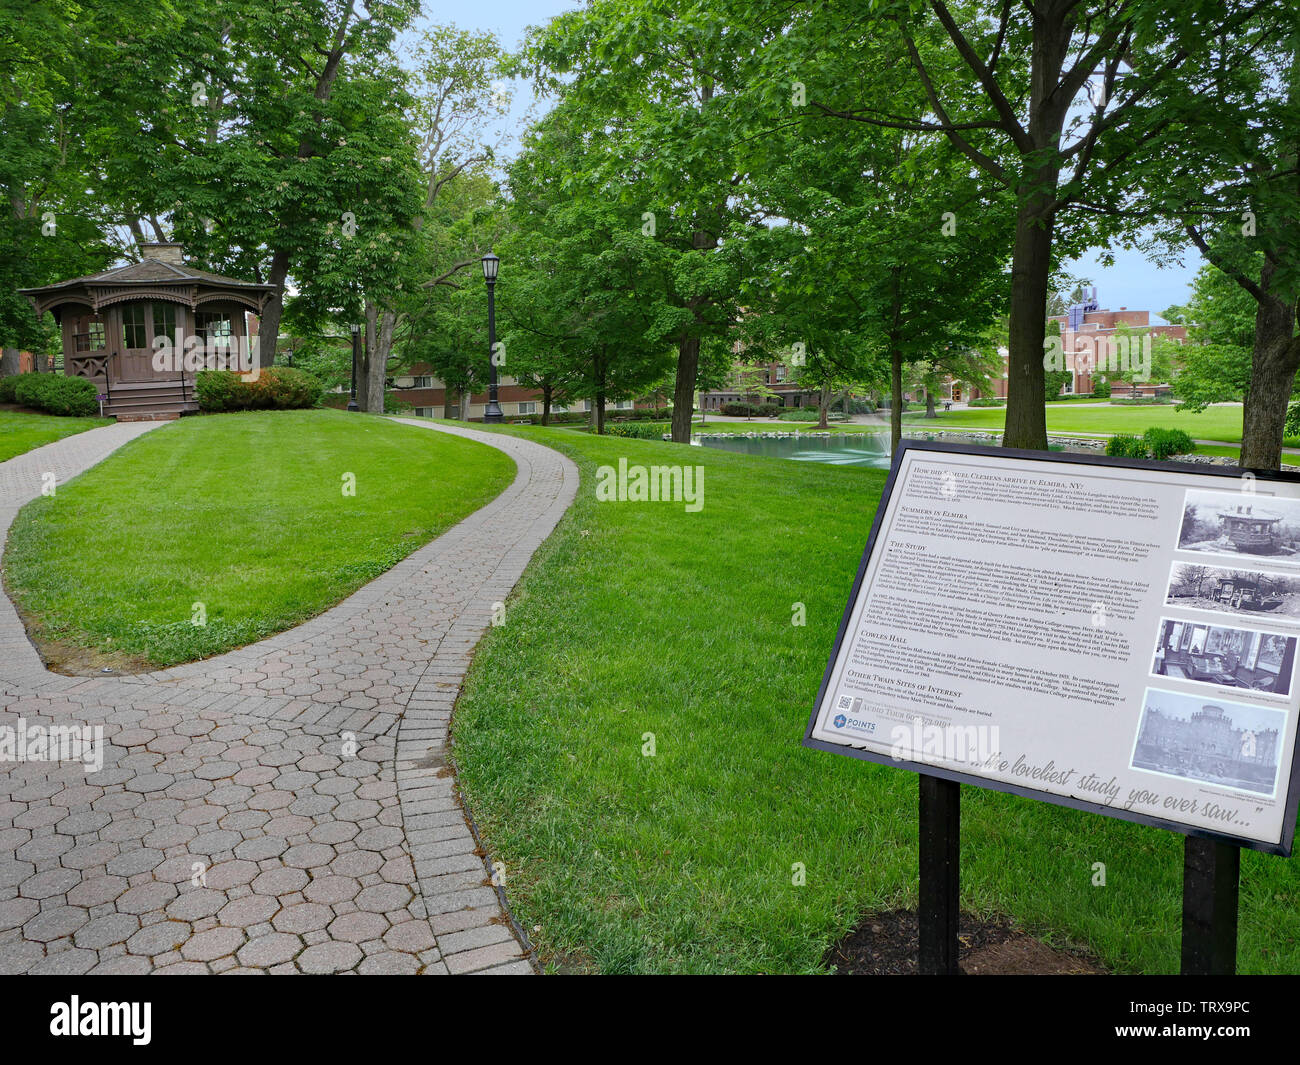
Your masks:
{"label": "green lawn right of the paved path, surrounding the sign posts", "polygon": [[[462,788],[543,960],[812,971],[862,913],[914,905],[916,778],[800,745],[883,475],[504,432],[582,472],[454,718]],[[620,456],[702,464],[703,510],[597,502],[594,467]],[[968,909],[1119,970],[1178,970],[1182,837],[963,795]],[[1240,970],[1300,971],[1300,862],[1242,866]]]}

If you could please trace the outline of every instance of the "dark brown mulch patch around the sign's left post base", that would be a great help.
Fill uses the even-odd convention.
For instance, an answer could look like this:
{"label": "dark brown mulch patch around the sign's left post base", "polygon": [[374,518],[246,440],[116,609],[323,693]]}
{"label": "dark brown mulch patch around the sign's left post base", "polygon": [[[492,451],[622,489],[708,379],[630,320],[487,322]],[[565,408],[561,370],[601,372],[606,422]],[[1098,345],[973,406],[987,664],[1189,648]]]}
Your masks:
{"label": "dark brown mulch patch around the sign's left post base", "polygon": [[[1083,952],[1048,947],[1006,921],[963,913],[959,965],[966,975],[1100,975],[1105,969]],[[911,910],[871,913],[831,947],[824,964],[840,975],[916,974],[918,926]]]}

